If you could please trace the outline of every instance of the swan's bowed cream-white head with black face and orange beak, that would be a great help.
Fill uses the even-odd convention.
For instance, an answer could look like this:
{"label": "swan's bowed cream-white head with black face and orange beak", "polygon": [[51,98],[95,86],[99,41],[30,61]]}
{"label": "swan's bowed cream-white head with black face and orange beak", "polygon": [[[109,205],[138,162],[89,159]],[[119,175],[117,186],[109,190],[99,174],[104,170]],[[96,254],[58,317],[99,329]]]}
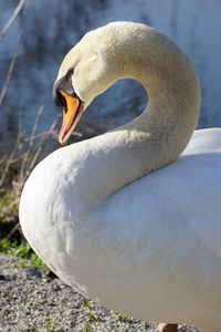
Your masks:
{"label": "swan's bowed cream-white head with black face and orange beak", "polygon": [[61,144],[67,142],[93,98],[124,77],[127,58],[138,50],[136,34],[147,29],[139,23],[113,22],[86,33],[65,55],[53,89],[55,104],[64,110]]}

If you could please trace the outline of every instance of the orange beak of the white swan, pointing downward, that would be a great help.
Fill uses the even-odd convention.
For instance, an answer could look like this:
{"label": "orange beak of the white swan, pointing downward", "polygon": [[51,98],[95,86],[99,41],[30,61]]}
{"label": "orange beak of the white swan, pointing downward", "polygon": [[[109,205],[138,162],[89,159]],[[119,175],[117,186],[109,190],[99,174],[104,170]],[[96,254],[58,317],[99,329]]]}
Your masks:
{"label": "orange beak of the white swan, pointing downward", "polygon": [[60,90],[66,102],[66,107],[63,108],[62,126],[59,133],[59,143],[66,145],[72,132],[76,127],[83,111],[84,104],[80,98],[73,97]]}

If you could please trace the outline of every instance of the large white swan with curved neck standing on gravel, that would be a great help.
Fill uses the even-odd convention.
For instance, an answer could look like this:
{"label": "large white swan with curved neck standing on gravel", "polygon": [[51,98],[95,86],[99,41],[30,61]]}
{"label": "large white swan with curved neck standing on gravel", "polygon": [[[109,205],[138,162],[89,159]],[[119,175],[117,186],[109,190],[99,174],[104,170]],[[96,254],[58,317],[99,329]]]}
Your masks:
{"label": "large white swan with curved neck standing on gravel", "polygon": [[54,83],[59,141],[127,77],[146,89],[146,110],[34,168],[20,200],[23,234],[62,280],[109,309],[171,323],[161,331],[220,331],[221,129],[194,131],[200,87],[182,51],[141,23],[86,33]]}

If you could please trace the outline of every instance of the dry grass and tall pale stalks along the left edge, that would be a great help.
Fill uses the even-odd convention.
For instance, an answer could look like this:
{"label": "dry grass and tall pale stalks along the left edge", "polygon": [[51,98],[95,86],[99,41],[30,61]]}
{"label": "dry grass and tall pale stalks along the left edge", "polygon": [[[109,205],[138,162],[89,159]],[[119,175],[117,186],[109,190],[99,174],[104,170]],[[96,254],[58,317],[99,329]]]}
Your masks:
{"label": "dry grass and tall pale stalks along the left edge", "polygon": [[[23,9],[25,0],[20,0],[18,6],[14,8],[9,20],[6,22],[4,27],[0,30],[0,41],[7,38],[9,29],[12,27],[18,15]],[[12,80],[12,74],[17,64],[18,52],[20,48],[20,42],[22,38],[22,31],[19,33],[19,38],[14,43],[14,51],[9,63],[9,68],[6,74],[6,79],[0,89],[0,107],[2,106],[3,100],[8,94],[8,90]],[[29,174],[33,167],[40,162],[40,159],[45,156],[45,151],[52,151],[52,142],[55,135],[54,127],[56,125],[57,118],[51,125],[51,127],[41,134],[38,134],[38,126],[41,114],[44,106],[41,105],[35,116],[33,124],[33,129],[30,136],[24,135],[21,129],[21,115],[19,121],[18,136],[14,143],[7,148],[6,152],[0,151],[0,221],[12,220],[14,216],[18,215],[18,204],[21,189]],[[3,110],[2,110],[3,112]],[[51,151],[49,148],[51,147]],[[17,218],[18,219],[18,218]],[[1,227],[0,225],[0,238],[1,238]]]}

